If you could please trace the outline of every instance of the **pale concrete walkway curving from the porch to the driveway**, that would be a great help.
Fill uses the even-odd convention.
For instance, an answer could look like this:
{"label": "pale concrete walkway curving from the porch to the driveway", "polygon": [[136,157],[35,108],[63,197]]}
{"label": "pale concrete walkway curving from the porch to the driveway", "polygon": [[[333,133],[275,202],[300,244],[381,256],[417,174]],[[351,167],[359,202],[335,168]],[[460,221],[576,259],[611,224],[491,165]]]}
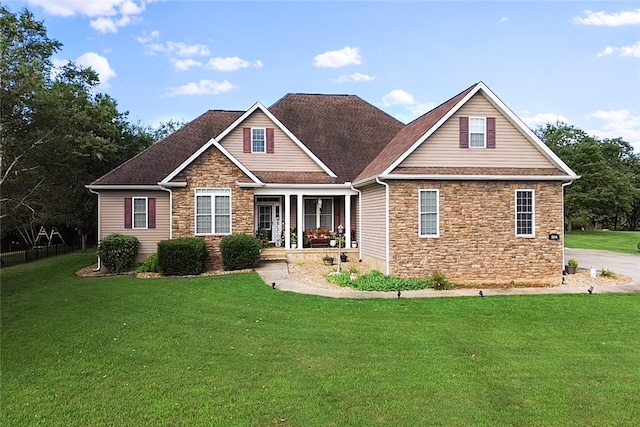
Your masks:
{"label": "pale concrete walkway curving from the porch to the driveway", "polygon": [[[580,266],[587,266],[593,263],[588,262],[590,258],[586,257],[586,254],[578,254],[571,250],[571,256],[567,254],[567,259],[573,257],[578,260]],[[604,255],[606,256],[610,254],[610,252],[606,252]],[[597,254],[596,254],[597,255]],[[618,255],[618,254],[616,254]],[[582,258],[580,258],[582,256]],[[633,255],[629,255],[633,257]],[[638,257],[640,259],[640,257]],[[604,258],[597,257],[596,260],[601,260]],[[626,259],[623,257],[623,259]],[[629,260],[627,260],[629,261]],[[633,258],[630,260],[633,261]],[[633,264],[633,263],[632,263]],[[596,265],[596,264],[593,264]],[[623,274],[625,276],[630,276],[634,279],[634,282],[630,285],[620,285],[620,286],[603,286],[598,287],[594,290],[595,294],[605,294],[605,293],[627,293],[627,292],[640,292],[640,272],[637,271],[638,264],[630,265],[629,272],[633,273],[634,271],[637,273],[635,276],[632,274],[627,274],[627,270],[620,268],[622,264],[614,266],[614,264],[609,263],[609,258],[607,258],[607,263],[602,264],[607,268],[610,268],[614,272]],[[610,267],[609,267],[610,266]],[[355,291],[355,290],[334,290],[334,289],[322,289],[322,288],[314,288],[311,286],[304,285],[299,283],[293,279],[289,275],[289,268],[286,262],[265,262],[260,264],[259,267],[256,268],[256,272],[260,275],[262,280],[264,280],[267,285],[273,286],[275,283],[275,288],[281,291],[288,292],[296,292],[299,294],[307,294],[307,295],[319,295],[330,298],[354,298],[354,299],[364,299],[364,298],[398,298],[396,292],[373,292],[373,291]],[[450,291],[435,291],[433,289],[423,289],[419,291],[403,291],[401,298],[434,298],[434,297],[459,297],[459,296],[478,296],[479,289],[454,289]],[[542,294],[586,294],[587,290],[581,287],[574,286],[559,286],[556,288],[508,288],[508,289],[483,289],[482,292],[485,296],[493,296],[493,295],[542,295]]]}

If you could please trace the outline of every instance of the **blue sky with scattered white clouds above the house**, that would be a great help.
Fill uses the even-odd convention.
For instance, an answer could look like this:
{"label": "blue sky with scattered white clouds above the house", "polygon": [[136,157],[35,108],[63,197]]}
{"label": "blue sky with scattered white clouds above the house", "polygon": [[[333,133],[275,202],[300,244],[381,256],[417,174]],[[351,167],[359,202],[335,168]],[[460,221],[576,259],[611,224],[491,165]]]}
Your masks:
{"label": "blue sky with scattered white clouds above the house", "polygon": [[640,3],[9,0],[92,66],[132,121],[287,93],[358,95],[408,122],[484,81],[530,127],[640,152]]}

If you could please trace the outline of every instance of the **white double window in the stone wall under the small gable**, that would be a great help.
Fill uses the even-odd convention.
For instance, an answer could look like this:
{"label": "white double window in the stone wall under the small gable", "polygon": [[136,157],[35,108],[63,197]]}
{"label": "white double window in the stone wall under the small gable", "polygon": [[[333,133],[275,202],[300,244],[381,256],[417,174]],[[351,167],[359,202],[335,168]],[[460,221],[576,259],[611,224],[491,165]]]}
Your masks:
{"label": "white double window in the stone wall under the small gable", "polygon": [[196,234],[231,234],[230,188],[196,188]]}

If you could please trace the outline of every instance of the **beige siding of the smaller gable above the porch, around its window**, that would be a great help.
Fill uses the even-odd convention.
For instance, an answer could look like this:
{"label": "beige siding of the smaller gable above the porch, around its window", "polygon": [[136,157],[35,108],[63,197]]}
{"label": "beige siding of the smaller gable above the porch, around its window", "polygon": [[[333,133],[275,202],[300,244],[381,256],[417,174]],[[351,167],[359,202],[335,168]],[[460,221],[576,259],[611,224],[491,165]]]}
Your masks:
{"label": "beige siding of the smaller gable above the porch, around its window", "polygon": [[[274,128],[273,153],[245,153],[243,128]],[[221,141],[222,146],[251,171],[264,172],[322,172],[300,147],[296,145],[262,111],[255,111]]]}

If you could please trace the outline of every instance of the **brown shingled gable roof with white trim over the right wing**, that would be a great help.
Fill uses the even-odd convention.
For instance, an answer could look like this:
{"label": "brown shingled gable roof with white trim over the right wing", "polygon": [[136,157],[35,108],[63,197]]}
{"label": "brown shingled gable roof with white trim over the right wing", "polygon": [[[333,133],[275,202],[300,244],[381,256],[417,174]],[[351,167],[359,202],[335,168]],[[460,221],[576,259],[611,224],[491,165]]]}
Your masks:
{"label": "brown shingled gable roof with white trim over the right wing", "polygon": [[483,82],[478,82],[453,98],[443,102],[433,110],[418,117],[405,126],[389,144],[380,152],[373,162],[355,179],[363,182],[380,175],[388,175],[411,153],[413,153],[429,136],[442,126],[476,93],[482,91],[495,108],[504,114],[525,137],[544,155],[559,172],[569,177],[576,174],[567,166],[529,127],[516,116]]}

